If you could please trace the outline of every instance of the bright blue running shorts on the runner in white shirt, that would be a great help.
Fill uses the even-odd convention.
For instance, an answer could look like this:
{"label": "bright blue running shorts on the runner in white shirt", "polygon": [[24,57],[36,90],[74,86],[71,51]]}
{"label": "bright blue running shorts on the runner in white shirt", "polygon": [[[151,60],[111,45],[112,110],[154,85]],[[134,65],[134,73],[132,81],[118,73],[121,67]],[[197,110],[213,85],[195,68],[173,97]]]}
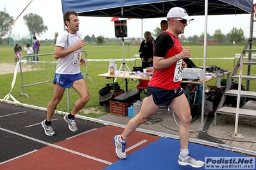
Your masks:
{"label": "bright blue running shorts on the runner in white shirt", "polygon": [[83,79],[83,75],[81,75],[81,73],[77,73],[77,74],[55,73],[53,84],[57,83],[62,88],[71,88],[73,85],[73,82],[78,81],[80,79]]}

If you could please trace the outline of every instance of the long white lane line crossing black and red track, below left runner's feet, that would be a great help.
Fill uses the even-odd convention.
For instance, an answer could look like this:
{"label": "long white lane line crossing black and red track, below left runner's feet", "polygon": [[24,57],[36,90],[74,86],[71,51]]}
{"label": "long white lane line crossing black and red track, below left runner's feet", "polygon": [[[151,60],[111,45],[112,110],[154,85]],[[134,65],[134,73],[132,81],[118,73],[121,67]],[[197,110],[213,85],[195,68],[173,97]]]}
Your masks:
{"label": "long white lane line crossing black and red track, below left runner's feet", "polygon": [[31,141],[36,141],[36,142],[38,142],[38,143],[46,144],[47,146],[51,146],[51,147],[53,147],[53,148],[58,148],[58,149],[60,149],[60,150],[68,151],[68,152],[70,152],[70,153],[73,153],[73,154],[76,154],[76,155],[80,155],[81,157],[85,157],[85,158],[89,158],[89,159],[92,159],[92,160],[96,160],[96,161],[102,162],[102,163],[104,163],[104,164],[108,164],[108,165],[113,164],[112,162],[108,162],[107,160],[103,160],[103,159],[100,159],[100,158],[92,157],[92,156],[90,156],[90,155],[86,155],[86,154],[80,153],[80,152],[78,152],[78,151],[69,150],[69,149],[64,148],[64,147],[62,147],[62,146],[58,146],[58,145],[56,145],[56,144],[47,143],[47,142],[41,141],[41,140],[39,140],[39,139],[35,139],[35,138],[33,138],[33,137],[30,137],[30,136],[28,136],[28,135],[22,135],[22,134],[19,134],[19,133],[17,133],[17,132],[13,132],[13,131],[11,131],[11,130],[7,130],[7,129],[5,129],[5,128],[1,128],[1,127],[0,127],[0,130],[3,130],[3,131],[5,131],[5,132],[9,132],[9,133],[11,133],[11,134],[19,135],[19,136],[24,137],[24,138],[26,138],[26,139],[30,139]]}

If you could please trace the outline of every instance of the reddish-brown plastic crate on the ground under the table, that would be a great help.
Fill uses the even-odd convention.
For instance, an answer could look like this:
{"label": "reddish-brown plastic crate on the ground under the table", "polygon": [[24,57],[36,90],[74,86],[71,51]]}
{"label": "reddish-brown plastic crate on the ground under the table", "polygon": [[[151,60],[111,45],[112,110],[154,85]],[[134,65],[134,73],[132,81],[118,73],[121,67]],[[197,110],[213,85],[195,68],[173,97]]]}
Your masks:
{"label": "reddish-brown plastic crate on the ground under the table", "polygon": [[110,114],[127,116],[127,108],[132,105],[128,103],[114,102],[110,100]]}

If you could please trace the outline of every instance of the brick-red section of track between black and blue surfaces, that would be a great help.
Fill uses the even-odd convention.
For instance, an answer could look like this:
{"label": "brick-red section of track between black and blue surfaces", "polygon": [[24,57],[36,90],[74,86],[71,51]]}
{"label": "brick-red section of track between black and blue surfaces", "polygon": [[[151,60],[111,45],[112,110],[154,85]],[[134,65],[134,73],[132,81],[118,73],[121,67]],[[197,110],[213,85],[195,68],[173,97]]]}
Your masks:
{"label": "brick-red section of track between black and blue surfaces", "polygon": [[[110,125],[91,130],[21,155],[1,164],[0,169],[103,169],[119,160],[113,137],[122,132],[123,128]],[[160,137],[133,132],[126,153],[129,155],[157,139]]]}

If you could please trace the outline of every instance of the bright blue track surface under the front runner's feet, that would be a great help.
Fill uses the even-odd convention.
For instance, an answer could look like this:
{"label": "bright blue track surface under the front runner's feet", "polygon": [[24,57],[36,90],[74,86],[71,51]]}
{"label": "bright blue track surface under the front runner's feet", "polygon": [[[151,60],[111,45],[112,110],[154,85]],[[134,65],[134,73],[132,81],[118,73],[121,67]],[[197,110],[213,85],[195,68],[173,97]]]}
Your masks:
{"label": "bright blue track surface under the front runner's feet", "polygon": [[[141,150],[128,155],[126,159],[119,160],[105,168],[108,169],[205,169],[178,165],[180,141],[176,139],[161,138],[145,146]],[[205,157],[246,157],[232,151],[220,150],[201,144],[189,143],[189,152],[199,160]]]}

